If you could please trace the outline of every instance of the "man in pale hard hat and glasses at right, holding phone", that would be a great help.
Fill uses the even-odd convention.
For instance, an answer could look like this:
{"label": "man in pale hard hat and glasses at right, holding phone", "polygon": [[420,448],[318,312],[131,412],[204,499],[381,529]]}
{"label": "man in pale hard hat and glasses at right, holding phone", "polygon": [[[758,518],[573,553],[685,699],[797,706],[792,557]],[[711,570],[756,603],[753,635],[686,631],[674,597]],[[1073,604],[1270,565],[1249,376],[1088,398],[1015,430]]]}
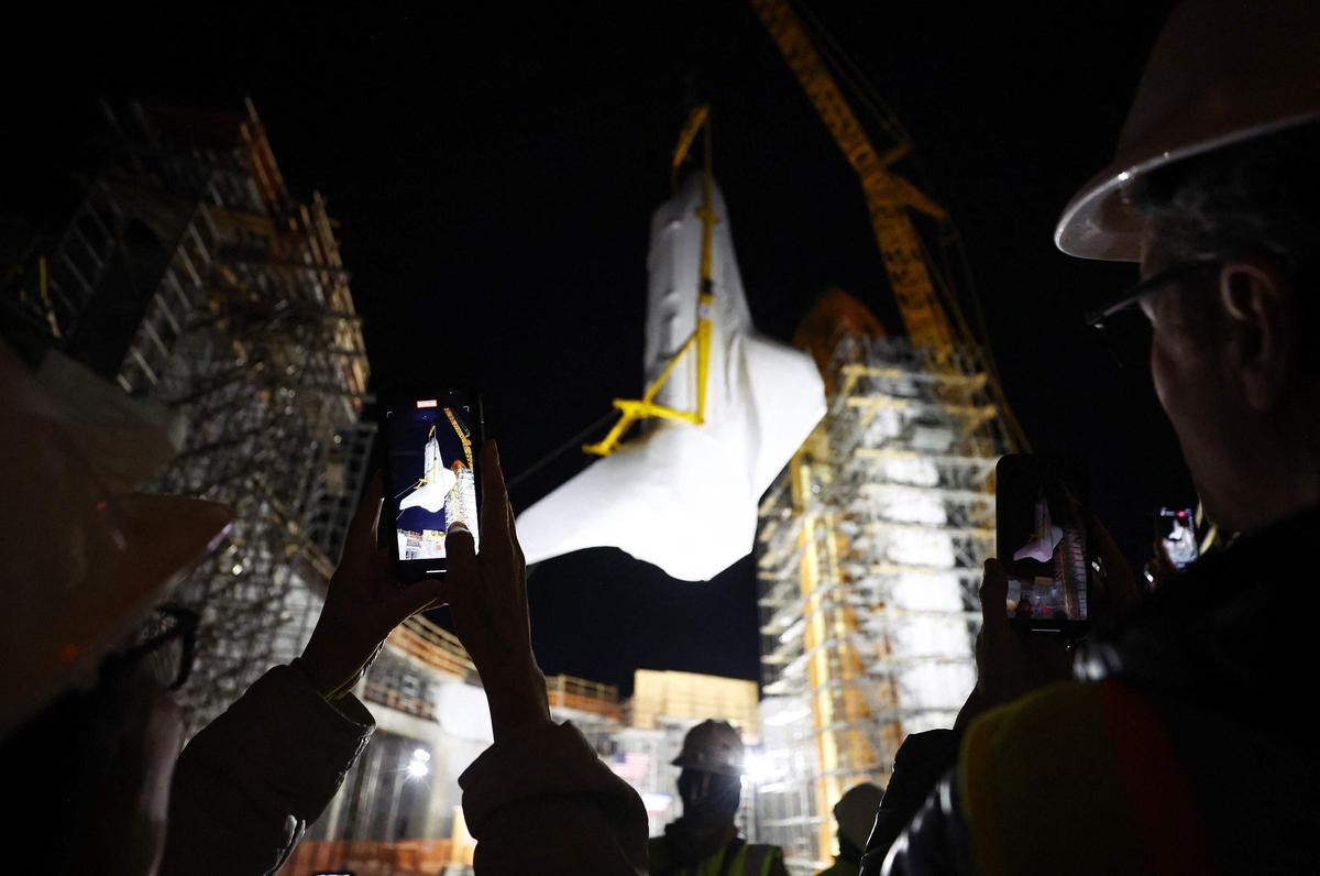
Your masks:
{"label": "man in pale hard hat and glasses at right, holding phone", "polygon": [[[957,764],[887,856],[903,813],[886,798],[863,872],[1316,869],[1320,754],[1280,704],[1315,687],[1317,156],[1320,4],[1179,5],[1117,159],[1055,240],[1140,266],[1090,320],[1134,322],[1206,513],[1236,536],[1144,604],[1110,551],[1097,584],[1123,610],[1080,643],[1077,680],[1043,687],[987,562]],[[902,765],[891,794],[911,791]]]}

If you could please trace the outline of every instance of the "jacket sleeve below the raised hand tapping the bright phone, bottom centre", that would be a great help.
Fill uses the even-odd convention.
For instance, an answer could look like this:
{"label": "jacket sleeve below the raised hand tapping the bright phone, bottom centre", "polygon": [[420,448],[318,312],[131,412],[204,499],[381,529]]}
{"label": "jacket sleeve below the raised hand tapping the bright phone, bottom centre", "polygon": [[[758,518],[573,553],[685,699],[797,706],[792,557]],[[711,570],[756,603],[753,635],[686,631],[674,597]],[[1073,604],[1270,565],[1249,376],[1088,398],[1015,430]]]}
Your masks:
{"label": "jacket sleeve below the raised hand tapping the bright phone, bottom centre", "polygon": [[479,876],[647,872],[642,798],[572,724],[491,745],[458,784]]}

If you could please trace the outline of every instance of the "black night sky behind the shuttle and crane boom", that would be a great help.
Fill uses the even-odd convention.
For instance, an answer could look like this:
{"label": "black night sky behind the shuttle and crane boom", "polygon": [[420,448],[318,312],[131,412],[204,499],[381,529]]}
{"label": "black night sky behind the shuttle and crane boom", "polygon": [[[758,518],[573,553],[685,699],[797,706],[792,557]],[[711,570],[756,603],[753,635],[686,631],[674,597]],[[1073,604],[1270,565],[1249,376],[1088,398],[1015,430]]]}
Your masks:
{"label": "black night sky behind the shuttle and crane boom", "polygon": [[[95,166],[98,96],[251,95],[294,194],[322,192],[342,223],[378,378],[480,386],[515,476],[642,388],[649,214],[692,94],[714,107],[758,326],[789,338],[838,285],[899,330],[855,177],[747,4],[323,7],[12,20],[0,214],[59,229]],[[1090,458],[1098,514],[1144,562],[1151,514],[1191,486],[1148,375],[1117,371],[1080,320],[1135,271],[1059,254],[1052,229],[1107,164],[1166,4],[812,8],[916,141],[1036,449]],[[515,503],[585,462],[566,455]],[[750,559],[706,585],[618,551],[546,562],[536,650],[546,673],[624,687],[635,667],[755,678],[754,587]]]}

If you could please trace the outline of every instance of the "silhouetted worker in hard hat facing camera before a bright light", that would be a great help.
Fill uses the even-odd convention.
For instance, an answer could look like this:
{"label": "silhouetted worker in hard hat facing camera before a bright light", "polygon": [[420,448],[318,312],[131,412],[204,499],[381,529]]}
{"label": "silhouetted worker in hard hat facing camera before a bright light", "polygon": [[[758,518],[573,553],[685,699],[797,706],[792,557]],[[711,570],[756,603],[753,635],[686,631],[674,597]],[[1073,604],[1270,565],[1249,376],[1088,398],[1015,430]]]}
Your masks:
{"label": "silhouetted worker in hard hat facing camera before a bright light", "polygon": [[673,761],[682,817],[652,838],[651,873],[665,876],[787,876],[777,846],[747,843],[734,827],[742,801],[742,737],[726,721],[706,720],[682,739]]}

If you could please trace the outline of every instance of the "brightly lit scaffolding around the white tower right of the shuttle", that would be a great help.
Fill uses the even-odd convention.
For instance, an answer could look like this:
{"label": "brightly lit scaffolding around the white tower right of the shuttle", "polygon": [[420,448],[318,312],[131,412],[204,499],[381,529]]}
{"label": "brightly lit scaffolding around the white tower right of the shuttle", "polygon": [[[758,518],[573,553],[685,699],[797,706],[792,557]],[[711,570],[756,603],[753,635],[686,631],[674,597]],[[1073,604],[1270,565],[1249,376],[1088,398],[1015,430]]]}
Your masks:
{"label": "brightly lit scaffolding around the white tower right of the shuttle", "polygon": [[842,793],[884,786],[903,737],[952,725],[975,682],[1007,447],[973,349],[843,336],[830,383],[758,536],[762,727],[780,776],[758,789],[758,822],[804,868],[830,856]]}

